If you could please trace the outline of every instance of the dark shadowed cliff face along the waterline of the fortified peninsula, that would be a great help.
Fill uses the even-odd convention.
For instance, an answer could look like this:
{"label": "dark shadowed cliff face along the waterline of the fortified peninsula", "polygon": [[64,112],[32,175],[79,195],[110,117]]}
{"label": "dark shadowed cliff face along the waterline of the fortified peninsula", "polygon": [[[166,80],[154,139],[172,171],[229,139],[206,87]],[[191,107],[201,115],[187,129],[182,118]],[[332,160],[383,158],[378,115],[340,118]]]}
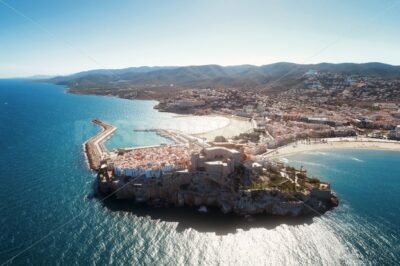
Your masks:
{"label": "dark shadowed cliff face along the waterline of the fortified peninsula", "polygon": [[160,180],[123,179],[100,182],[103,193],[117,199],[135,199],[155,206],[217,207],[223,213],[241,216],[270,214],[285,216],[320,215],[337,206],[333,193],[283,192],[277,189],[234,190],[203,175],[172,175]]}

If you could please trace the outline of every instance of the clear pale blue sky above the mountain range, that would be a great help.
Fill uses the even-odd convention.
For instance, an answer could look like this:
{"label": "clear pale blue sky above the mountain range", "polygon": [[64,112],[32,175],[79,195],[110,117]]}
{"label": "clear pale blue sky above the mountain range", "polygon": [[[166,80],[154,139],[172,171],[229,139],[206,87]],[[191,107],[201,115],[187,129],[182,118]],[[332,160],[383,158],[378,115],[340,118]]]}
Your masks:
{"label": "clear pale blue sky above the mountain range", "polygon": [[0,0],[0,77],[282,61],[400,65],[400,0]]}

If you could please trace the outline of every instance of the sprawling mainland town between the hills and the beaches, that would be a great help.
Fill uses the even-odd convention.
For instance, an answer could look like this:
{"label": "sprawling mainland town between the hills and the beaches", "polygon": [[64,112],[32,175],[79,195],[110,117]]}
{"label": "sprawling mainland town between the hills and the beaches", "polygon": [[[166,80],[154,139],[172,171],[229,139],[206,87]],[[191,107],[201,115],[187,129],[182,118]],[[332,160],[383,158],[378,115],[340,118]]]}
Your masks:
{"label": "sprawling mainland town between the hills and the beaches", "polygon": [[[400,80],[308,71],[282,93],[187,89],[160,99],[160,111],[252,119],[265,148],[296,140],[366,136],[400,140]],[[388,101],[390,99],[390,101]],[[260,141],[261,139],[261,141]]]}

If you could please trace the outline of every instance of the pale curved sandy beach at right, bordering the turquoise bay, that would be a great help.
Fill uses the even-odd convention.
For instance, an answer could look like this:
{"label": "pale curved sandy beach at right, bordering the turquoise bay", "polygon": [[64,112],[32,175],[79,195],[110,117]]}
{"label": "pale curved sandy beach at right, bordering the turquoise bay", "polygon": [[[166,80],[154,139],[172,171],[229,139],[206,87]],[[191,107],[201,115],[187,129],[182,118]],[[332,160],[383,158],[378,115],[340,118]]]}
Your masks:
{"label": "pale curved sandy beach at right, bordering the turquoise bay", "polygon": [[381,140],[372,138],[329,138],[318,141],[298,141],[286,146],[269,150],[264,154],[267,158],[279,158],[302,152],[330,150],[330,149],[366,149],[388,150],[400,152],[400,141]]}

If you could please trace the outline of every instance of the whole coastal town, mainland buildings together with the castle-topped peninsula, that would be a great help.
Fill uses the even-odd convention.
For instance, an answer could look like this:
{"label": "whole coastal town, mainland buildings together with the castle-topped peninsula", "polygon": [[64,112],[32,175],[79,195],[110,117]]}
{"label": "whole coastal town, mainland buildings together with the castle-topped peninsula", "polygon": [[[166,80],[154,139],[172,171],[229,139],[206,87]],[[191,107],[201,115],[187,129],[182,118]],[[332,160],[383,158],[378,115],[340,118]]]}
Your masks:
{"label": "whole coastal town, mainland buildings together with the castle-topped peninsula", "polygon": [[117,129],[94,120],[104,131],[86,143],[86,153],[102,195],[153,206],[216,207],[243,216],[322,214],[338,204],[330,185],[271,156],[289,145],[345,144],[349,138],[362,148],[379,143],[391,149],[400,140],[399,88],[399,80],[309,70],[276,93],[182,89],[163,94],[154,108],[245,118],[252,130],[206,140],[152,129],[174,144],[108,151],[103,144]]}

